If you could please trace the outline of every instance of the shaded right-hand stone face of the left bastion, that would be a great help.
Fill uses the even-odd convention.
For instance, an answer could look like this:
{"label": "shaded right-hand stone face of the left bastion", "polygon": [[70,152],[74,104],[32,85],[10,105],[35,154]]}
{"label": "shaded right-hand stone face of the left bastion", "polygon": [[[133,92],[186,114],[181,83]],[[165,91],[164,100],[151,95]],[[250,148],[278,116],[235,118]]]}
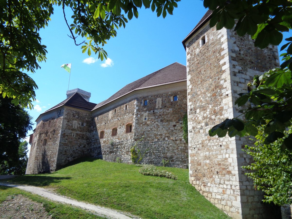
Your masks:
{"label": "shaded right-hand stone face of the left bastion", "polygon": [[65,107],[57,168],[80,157],[98,157],[100,151],[90,144],[90,136],[91,112]]}

